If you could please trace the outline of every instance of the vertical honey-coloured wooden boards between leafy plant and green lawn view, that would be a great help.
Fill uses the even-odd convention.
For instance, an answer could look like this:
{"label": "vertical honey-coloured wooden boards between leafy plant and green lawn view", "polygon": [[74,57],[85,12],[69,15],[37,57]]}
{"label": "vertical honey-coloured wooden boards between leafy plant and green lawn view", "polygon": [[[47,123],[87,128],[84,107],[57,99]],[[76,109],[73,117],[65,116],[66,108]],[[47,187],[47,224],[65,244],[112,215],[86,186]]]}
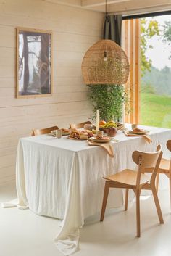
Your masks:
{"label": "vertical honey-coloured wooden boards between leafy plant and green lawn view", "polygon": [[126,123],[139,122],[140,107],[140,22],[138,19],[124,20],[122,29],[122,48],[128,55],[130,75],[125,88],[130,93],[130,114],[125,115]]}

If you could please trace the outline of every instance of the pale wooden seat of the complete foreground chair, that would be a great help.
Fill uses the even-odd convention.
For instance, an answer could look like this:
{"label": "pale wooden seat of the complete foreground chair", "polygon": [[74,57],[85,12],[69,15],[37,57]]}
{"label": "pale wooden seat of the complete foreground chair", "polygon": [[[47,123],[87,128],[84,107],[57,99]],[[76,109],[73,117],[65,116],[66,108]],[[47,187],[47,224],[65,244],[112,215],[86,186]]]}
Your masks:
{"label": "pale wooden seat of the complete foreground chair", "polygon": [[[130,169],[125,169],[125,170],[122,170],[120,173],[116,173],[111,176],[104,177],[104,179],[108,181],[114,181],[117,183],[122,183],[130,186],[136,186],[136,178],[137,178],[137,172],[135,170],[130,170]],[[149,176],[146,176],[146,174],[141,173],[140,185],[148,183],[149,179],[150,179]]]}

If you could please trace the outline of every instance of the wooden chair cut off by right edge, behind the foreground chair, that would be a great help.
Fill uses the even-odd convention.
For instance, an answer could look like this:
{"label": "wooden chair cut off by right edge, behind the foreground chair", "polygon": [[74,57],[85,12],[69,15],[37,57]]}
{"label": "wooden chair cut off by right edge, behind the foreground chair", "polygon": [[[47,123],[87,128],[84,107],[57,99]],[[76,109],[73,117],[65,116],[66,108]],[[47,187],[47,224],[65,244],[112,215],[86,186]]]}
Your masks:
{"label": "wooden chair cut off by right edge, behind the foreground chair", "polygon": [[[171,152],[171,140],[167,141],[166,146],[167,146],[167,149],[169,149]],[[149,168],[147,168],[145,170],[145,173],[151,173],[151,172],[152,172],[152,170]],[[157,170],[157,178],[156,178],[157,191],[159,188],[159,174],[160,173],[165,174],[170,180],[170,207],[171,207],[171,158],[170,158],[170,160],[162,158],[162,160],[160,162],[159,169]]]}

